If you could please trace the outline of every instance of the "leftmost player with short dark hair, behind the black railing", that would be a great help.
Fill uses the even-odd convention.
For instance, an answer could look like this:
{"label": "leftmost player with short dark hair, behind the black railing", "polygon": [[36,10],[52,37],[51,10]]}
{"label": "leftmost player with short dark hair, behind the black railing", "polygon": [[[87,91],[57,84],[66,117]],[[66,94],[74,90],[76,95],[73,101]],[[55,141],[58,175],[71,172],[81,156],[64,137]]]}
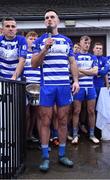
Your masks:
{"label": "leftmost player with short dark hair, behind the black railing", "polygon": [[27,54],[27,42],[23,36],[16,35],[17,25],[12,17],[2,20],[0,36],[0,77],[17,80],[21,74]]}

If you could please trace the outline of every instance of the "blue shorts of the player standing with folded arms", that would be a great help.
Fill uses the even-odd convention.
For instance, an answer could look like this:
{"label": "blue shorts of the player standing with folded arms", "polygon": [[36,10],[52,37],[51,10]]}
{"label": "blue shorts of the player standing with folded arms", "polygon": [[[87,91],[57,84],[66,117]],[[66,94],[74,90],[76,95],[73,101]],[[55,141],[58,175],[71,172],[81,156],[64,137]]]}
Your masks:
{"label": "blue shorts of the player standing with folded arms", "polygon": [[75,94],[74,100],[92,100],[96,99],[97,94],[95,88],[80,88],[79,92]]}

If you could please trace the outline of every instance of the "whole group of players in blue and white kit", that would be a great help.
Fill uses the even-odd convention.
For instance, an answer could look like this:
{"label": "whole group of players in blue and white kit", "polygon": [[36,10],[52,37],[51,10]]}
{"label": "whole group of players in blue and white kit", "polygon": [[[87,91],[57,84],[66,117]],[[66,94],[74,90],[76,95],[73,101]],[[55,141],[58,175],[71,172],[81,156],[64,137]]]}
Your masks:
{"label": "whole group of players in blue and white kit", "polygon": [[100,89],[109,87],[110,61],[103,56],[101,42],[94,44],[91,54],[89,36],[81,36],[73,46],[68,37],[60,34],[60,20],[55,10],[47,10],[44,19],[50,31],[40,37],[31,31],[26,38],[17,35],[14,18],[2,20],[0,78],[21,80],[25,77],[26,85],[40,84],[39,106],[30,104],[29,99],[26,104],[26,136],[27,140],[36,141],[32,135],[35,126],[42,152],[39,169],[46,172],[50,167],[50,138],[59,147],[58,162],[73,167],[73,161],[66,156],[66,141],[68,138],[72,144],[78,144],[79,127],[84,127],[81,114],[84,115],[85,109],[88,114],[85,131],[93,143],[100,142],[94,134],[95,107]]}

